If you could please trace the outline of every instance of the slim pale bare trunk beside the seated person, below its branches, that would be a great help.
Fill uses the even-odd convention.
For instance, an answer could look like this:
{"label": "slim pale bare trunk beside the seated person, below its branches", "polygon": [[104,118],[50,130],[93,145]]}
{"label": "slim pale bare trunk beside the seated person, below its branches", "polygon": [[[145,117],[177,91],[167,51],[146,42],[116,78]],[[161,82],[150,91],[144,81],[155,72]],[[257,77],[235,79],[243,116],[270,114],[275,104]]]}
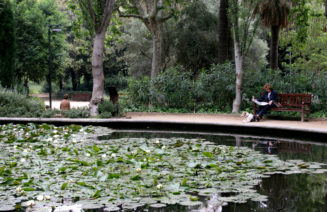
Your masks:
{"label": "slim pale bare trunk beside the seated person, below its branches", "polygon": [[243,84],[243,55],[241,53],[240,44],[234,39],[234,57],[236,69],[236,91],[233,101],[233,113],[238,113],[242,103],[242,84]]}

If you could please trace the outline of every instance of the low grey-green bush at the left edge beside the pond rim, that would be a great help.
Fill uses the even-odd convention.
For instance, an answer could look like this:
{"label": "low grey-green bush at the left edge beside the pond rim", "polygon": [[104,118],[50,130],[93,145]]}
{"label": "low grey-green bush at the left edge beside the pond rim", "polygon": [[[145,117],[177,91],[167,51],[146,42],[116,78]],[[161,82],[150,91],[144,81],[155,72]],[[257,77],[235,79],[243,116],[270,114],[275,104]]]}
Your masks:
{"label": "low grey-green bush at the left edge beside the pond rim", "polygon": [[44,111],[45,105],[41,99],[0,90],[0,116],[2,117],[41,117]]}

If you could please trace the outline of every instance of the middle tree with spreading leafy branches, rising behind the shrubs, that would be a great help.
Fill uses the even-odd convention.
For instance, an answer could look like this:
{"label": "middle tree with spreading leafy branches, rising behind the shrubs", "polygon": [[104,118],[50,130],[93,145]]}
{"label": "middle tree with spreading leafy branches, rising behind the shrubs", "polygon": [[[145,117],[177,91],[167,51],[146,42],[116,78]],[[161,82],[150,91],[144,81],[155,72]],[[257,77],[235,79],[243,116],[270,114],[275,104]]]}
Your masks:
{"label": "middle tree with spreading leafy branches, rising behind the shrubs", "polygon": [[162,71],[164,64],[163,24],[178,11],[179,0],[125,0],[122,1],[121,17],[138,18],[152,35],[151,79]]}

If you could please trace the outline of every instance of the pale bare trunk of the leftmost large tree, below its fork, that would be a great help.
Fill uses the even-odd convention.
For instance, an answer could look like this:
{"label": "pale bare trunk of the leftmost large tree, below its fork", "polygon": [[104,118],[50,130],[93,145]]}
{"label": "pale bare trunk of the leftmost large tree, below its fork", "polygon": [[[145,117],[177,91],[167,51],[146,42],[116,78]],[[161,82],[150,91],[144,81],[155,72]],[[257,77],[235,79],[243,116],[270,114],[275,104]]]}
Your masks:
{"label": "pale bare trunk of the leftmost large tree, below its fork", "polygon": [[90,102],[90,115],[98,115],[98,105],[103,100],[104,93],[104,74],[103,74],[103,50],[106,28],[95,34],[92,53],[92,75],[93,90]]}

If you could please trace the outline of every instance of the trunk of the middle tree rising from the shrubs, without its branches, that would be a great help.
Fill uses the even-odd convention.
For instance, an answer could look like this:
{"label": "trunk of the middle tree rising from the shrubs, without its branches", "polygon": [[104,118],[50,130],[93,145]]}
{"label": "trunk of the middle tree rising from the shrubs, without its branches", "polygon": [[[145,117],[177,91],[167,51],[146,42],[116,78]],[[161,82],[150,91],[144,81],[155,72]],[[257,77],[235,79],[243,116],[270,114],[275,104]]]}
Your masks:
{"label": "trunk of the middle tree rising from the shrubs, without its branches", "polygon": [[153,23],[151,32],[153,36],[151,79],[154,79],[160,73],[164,65],[163,23]]}

